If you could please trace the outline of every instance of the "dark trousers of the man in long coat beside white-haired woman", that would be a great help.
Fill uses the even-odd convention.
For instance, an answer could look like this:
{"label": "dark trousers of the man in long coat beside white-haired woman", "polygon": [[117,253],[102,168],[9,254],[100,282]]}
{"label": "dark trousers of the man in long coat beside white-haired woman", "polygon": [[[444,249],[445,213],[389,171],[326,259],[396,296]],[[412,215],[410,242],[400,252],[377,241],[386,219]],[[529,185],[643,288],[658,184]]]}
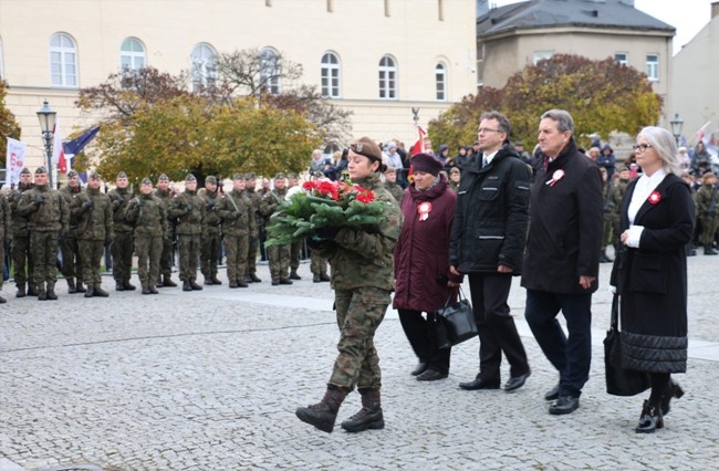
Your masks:
{"label": "dark trousers of the man in long coat beside white-haired woman", "polygon": [[[556,320],[560,310],[569,338]],[[592,294],[527,290],[524,316],[542,352],[560,371],[560,396],[580,397],[592,363]]]}

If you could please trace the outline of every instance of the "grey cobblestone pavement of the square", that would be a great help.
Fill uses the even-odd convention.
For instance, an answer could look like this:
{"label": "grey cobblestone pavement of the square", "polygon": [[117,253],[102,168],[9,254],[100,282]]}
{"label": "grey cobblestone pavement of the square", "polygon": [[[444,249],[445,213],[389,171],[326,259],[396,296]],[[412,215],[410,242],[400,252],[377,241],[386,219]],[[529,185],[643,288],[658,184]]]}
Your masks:
{"label": "grey cobblestone pavement of the square", "polygon": [[[548,414],[542,396],[558,377],[523,321],[515,283],[510,305],[532,366],[522,389],[457,387],[477,373],[476,339],[455,348],[448,379],[415,380],[416,359],[389,311],[376,338],[386,428],[356,435],[326,435],[294,417],[321,398],[336,353],[333,294],[312,283],[309,264],[292,286],[271,286],[261,265],[263,282],[246,290],[225,283],[157,296],[87,300],[63,287],[58,302],[39,302],[11,297],[7,285],[0,470],[716,469],[719,257],[689,259],[691,358],[677,375],[687,394],[648,436],[634,432],[643,398],[604,391],[609,268],[594,297],[592,377],[576,412]],[[358,407],[354,393],[338,421]]]}

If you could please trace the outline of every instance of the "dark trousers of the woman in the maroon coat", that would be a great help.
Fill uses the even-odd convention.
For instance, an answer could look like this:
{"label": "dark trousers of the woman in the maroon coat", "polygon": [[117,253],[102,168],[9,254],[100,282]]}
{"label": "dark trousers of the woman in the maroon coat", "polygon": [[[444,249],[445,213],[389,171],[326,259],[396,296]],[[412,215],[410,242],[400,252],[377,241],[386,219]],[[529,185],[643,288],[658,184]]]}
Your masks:
{"label": "dark trousers of the woman in the maroon coat", "polygon": [[405,331],[411,349],[426,363],[430,369],[439,373],[449,373],[449,356],[451,348],[437,348],[437,314],[427,313],[427,318],[421,316],[419,311],[397,310],[399,323]]}

